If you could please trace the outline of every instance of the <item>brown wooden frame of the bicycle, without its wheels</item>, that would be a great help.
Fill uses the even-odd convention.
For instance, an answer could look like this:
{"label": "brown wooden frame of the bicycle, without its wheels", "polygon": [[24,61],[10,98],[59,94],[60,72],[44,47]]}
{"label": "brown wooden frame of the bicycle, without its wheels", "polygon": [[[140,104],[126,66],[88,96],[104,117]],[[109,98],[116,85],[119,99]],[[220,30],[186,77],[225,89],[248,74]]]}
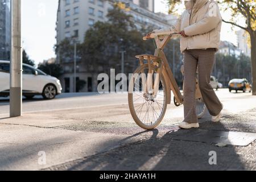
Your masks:
{"label": "brown wooden frame of the bicycle, without its wheels", "polygon": [[[159,85],[159,75],[162,74],[164,77],[164,80],[166,81],[167,86],[167,104],[171,104],[171,91],[174,93],[174,97],[176,100],[177,105],[183,104],[183,96],[180,93],[179,86],[177,85],[177,82],[175,80],[174,74],[172,73],[172,70],[168,64],[168,60],[166,58],[166,55],[164,54],[164,47],[169,42],[171,38],[177,37],[178,34],[171,34],[171,35],[156,35],[154,37],[155,43],[156,43],[156,49],[154,56],[152,55],[138,55],[136,56],[139,59],[139,63],[143,65],[143,60],[147,60],[148,64],[148,70],[150,71],[148,74],[152,74],[151,65],[154,64],[154,61],[158,61],[158,69],[156,74],[156,79],[154,82],[154,85]],[[181,71],[182,72],[182,71]],[[142,76],[142,82],[143,84],[149,84],[152,82],[152,76],[149,76],[147,81]],[[146,85],[143,85],[143,92],[148,93],[148,89]],[[154,94],[158,92],[158,86],[154,88]],[[196,99],[201,98],[201,92],[199,89],[199,84],[196,79]]]}

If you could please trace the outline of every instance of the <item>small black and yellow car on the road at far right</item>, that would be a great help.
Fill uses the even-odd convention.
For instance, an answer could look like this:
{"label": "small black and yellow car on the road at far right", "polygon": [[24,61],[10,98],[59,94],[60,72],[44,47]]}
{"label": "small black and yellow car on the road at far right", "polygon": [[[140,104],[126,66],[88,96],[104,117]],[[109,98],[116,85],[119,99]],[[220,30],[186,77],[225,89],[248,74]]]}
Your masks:
{"label": "small black and yellow car on the road at far right", "polygon": [[238,90],[241,90],[243,92],[251,92],[251,85],[249,81],[246,80],[246,78],[235,78],[229,81],[229,92],[231,92],[232,90],[236,90],[236,92]]}

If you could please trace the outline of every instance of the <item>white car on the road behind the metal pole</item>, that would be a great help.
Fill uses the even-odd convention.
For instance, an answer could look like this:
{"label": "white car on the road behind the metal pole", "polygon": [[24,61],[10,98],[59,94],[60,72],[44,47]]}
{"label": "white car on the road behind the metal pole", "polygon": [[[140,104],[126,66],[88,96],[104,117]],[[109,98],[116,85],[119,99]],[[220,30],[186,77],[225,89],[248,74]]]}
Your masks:
{"label": "white car on the road behind the metal pole", "polygon": [[[26,98],[42,95],[51,100],[61,93],[60,80],[46,75],[46,73],[23,64],[22,94]],[[0,61],[0,96],[6,97],[10,94],[10,61]]]}

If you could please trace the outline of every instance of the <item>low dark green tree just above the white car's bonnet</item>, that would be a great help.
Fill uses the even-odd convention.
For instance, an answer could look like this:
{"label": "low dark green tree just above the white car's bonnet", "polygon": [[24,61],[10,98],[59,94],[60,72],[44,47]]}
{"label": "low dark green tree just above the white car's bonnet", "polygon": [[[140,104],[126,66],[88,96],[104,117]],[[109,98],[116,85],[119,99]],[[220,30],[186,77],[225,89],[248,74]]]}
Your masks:
{"label": "low dark green tree just above the white car's bonnet", "polygon": [[63,75],[63,68],[57,63],[39,63],[38,69],[56,78],[60,78],[60,76]]}

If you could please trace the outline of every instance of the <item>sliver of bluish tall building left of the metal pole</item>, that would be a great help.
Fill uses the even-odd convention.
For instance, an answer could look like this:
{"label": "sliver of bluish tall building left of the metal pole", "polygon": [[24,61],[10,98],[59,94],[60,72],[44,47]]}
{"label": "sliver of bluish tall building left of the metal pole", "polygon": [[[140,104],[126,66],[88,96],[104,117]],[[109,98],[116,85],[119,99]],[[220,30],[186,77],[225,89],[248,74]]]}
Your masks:
{"label": "sliver of bluish tall building left of the metal pole", "polygon": [[11,12],[10,0],[0,1],[0,60],[10,60]]}

